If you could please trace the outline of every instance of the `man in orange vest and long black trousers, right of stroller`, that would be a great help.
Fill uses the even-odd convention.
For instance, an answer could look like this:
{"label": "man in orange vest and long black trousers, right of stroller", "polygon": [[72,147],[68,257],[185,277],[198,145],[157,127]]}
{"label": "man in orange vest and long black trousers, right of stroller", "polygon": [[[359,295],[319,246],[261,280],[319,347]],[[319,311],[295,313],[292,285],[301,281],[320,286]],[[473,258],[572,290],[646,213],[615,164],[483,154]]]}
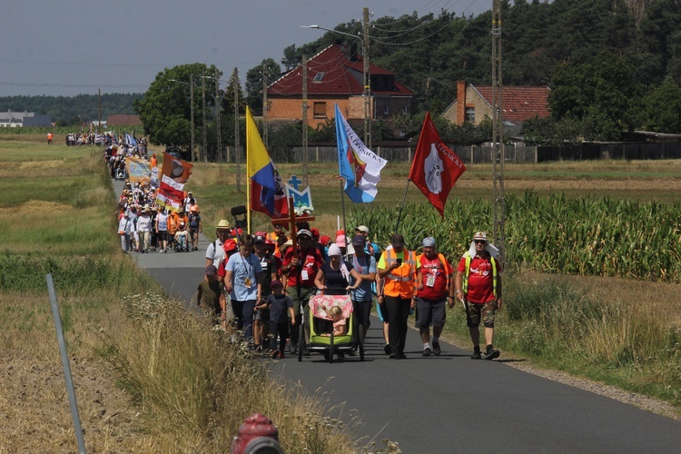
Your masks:
{"label": "man in orange vest and long black trousers, right of stroller", "polygon": [[388,310],[388,340],[390,359],[404,360],[404,343],[407,340],[407,319],[410,308],[415,307],[414,290],[416,257],[404,247],[404,236],[395,233],[390,239],[392,248],[383,252],[377,265],[383,279],[379,303]]}

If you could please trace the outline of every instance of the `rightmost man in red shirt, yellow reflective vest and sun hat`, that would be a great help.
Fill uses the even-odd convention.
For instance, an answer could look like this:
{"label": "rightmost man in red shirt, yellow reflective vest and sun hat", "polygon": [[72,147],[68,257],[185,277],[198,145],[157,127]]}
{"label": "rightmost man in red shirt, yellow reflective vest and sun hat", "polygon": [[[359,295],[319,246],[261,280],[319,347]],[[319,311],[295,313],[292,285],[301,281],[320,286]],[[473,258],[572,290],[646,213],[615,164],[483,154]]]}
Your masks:
{"label": "rightmost man in red shirt, yellow reflective vest and sun hat", "polygon": [[[494,360],[499,351],[494,349],[494,314],[501,309],[500,266],[495,257],[498,249],[487,239],[487,233],[476,232],[469,251],[463,254],[457,267],[455,297],[466,306],[470,339],[473,341],[472,360]],[[451,303],[450,303],[451,305]],[[479,325],[485,326],[485,355],[480,354]]]}

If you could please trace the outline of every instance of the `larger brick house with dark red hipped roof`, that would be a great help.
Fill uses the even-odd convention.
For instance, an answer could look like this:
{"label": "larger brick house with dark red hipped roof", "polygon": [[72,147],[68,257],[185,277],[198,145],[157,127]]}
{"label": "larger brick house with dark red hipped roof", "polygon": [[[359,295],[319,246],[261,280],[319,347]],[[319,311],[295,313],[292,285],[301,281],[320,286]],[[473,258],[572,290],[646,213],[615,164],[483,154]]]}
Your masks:
{"label": "larger brick house with dark red hipped roof", "polygon": [[[307,64],[308,124],[316,127],[334,118],[338,104],[348,120],[364,118],[364,62],[356,45],[331,44]],[[395,74],[369,65],[372,119],[410,114],[414,94]],[[302,120],[302,67],[282,75],[267,89],[268,120]]]}

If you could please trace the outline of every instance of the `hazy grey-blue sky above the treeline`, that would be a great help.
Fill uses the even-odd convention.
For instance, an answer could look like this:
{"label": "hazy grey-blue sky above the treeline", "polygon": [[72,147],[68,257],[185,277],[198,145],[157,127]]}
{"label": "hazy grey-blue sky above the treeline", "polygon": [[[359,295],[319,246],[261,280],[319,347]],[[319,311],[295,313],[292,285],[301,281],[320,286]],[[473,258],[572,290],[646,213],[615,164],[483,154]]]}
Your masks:
{"label": "hazy grey-blue sky above the treeline", "polygon": [[[0,14],[0,96],[143,93],[164,68],[215,64],[243,83],[283,49],[361,21],[441,10],[489,11],[492,0],[21,0]],[[282,68],[283,69],[283,68]]]}

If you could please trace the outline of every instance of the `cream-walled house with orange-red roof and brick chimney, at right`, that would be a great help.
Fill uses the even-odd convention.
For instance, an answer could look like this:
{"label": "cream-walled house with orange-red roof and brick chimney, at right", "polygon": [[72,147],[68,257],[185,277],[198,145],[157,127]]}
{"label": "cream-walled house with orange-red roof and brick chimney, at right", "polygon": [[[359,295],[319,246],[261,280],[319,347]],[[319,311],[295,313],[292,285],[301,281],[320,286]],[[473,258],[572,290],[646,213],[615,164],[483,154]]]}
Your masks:
{"label": "cream-walled house with orange-red roof and brick chimney, at right", "polygon": [[[505,129],[516,135],[522,129],[522,123],[529,118],[546,118],[548,110],[547,86],[502,86],[501,110]],[[457,83],[457,99],[449,104],[442,113],[451,123],[481,123],[486,117],[492,117],[492,87],[476,86],[459,81]]]}

